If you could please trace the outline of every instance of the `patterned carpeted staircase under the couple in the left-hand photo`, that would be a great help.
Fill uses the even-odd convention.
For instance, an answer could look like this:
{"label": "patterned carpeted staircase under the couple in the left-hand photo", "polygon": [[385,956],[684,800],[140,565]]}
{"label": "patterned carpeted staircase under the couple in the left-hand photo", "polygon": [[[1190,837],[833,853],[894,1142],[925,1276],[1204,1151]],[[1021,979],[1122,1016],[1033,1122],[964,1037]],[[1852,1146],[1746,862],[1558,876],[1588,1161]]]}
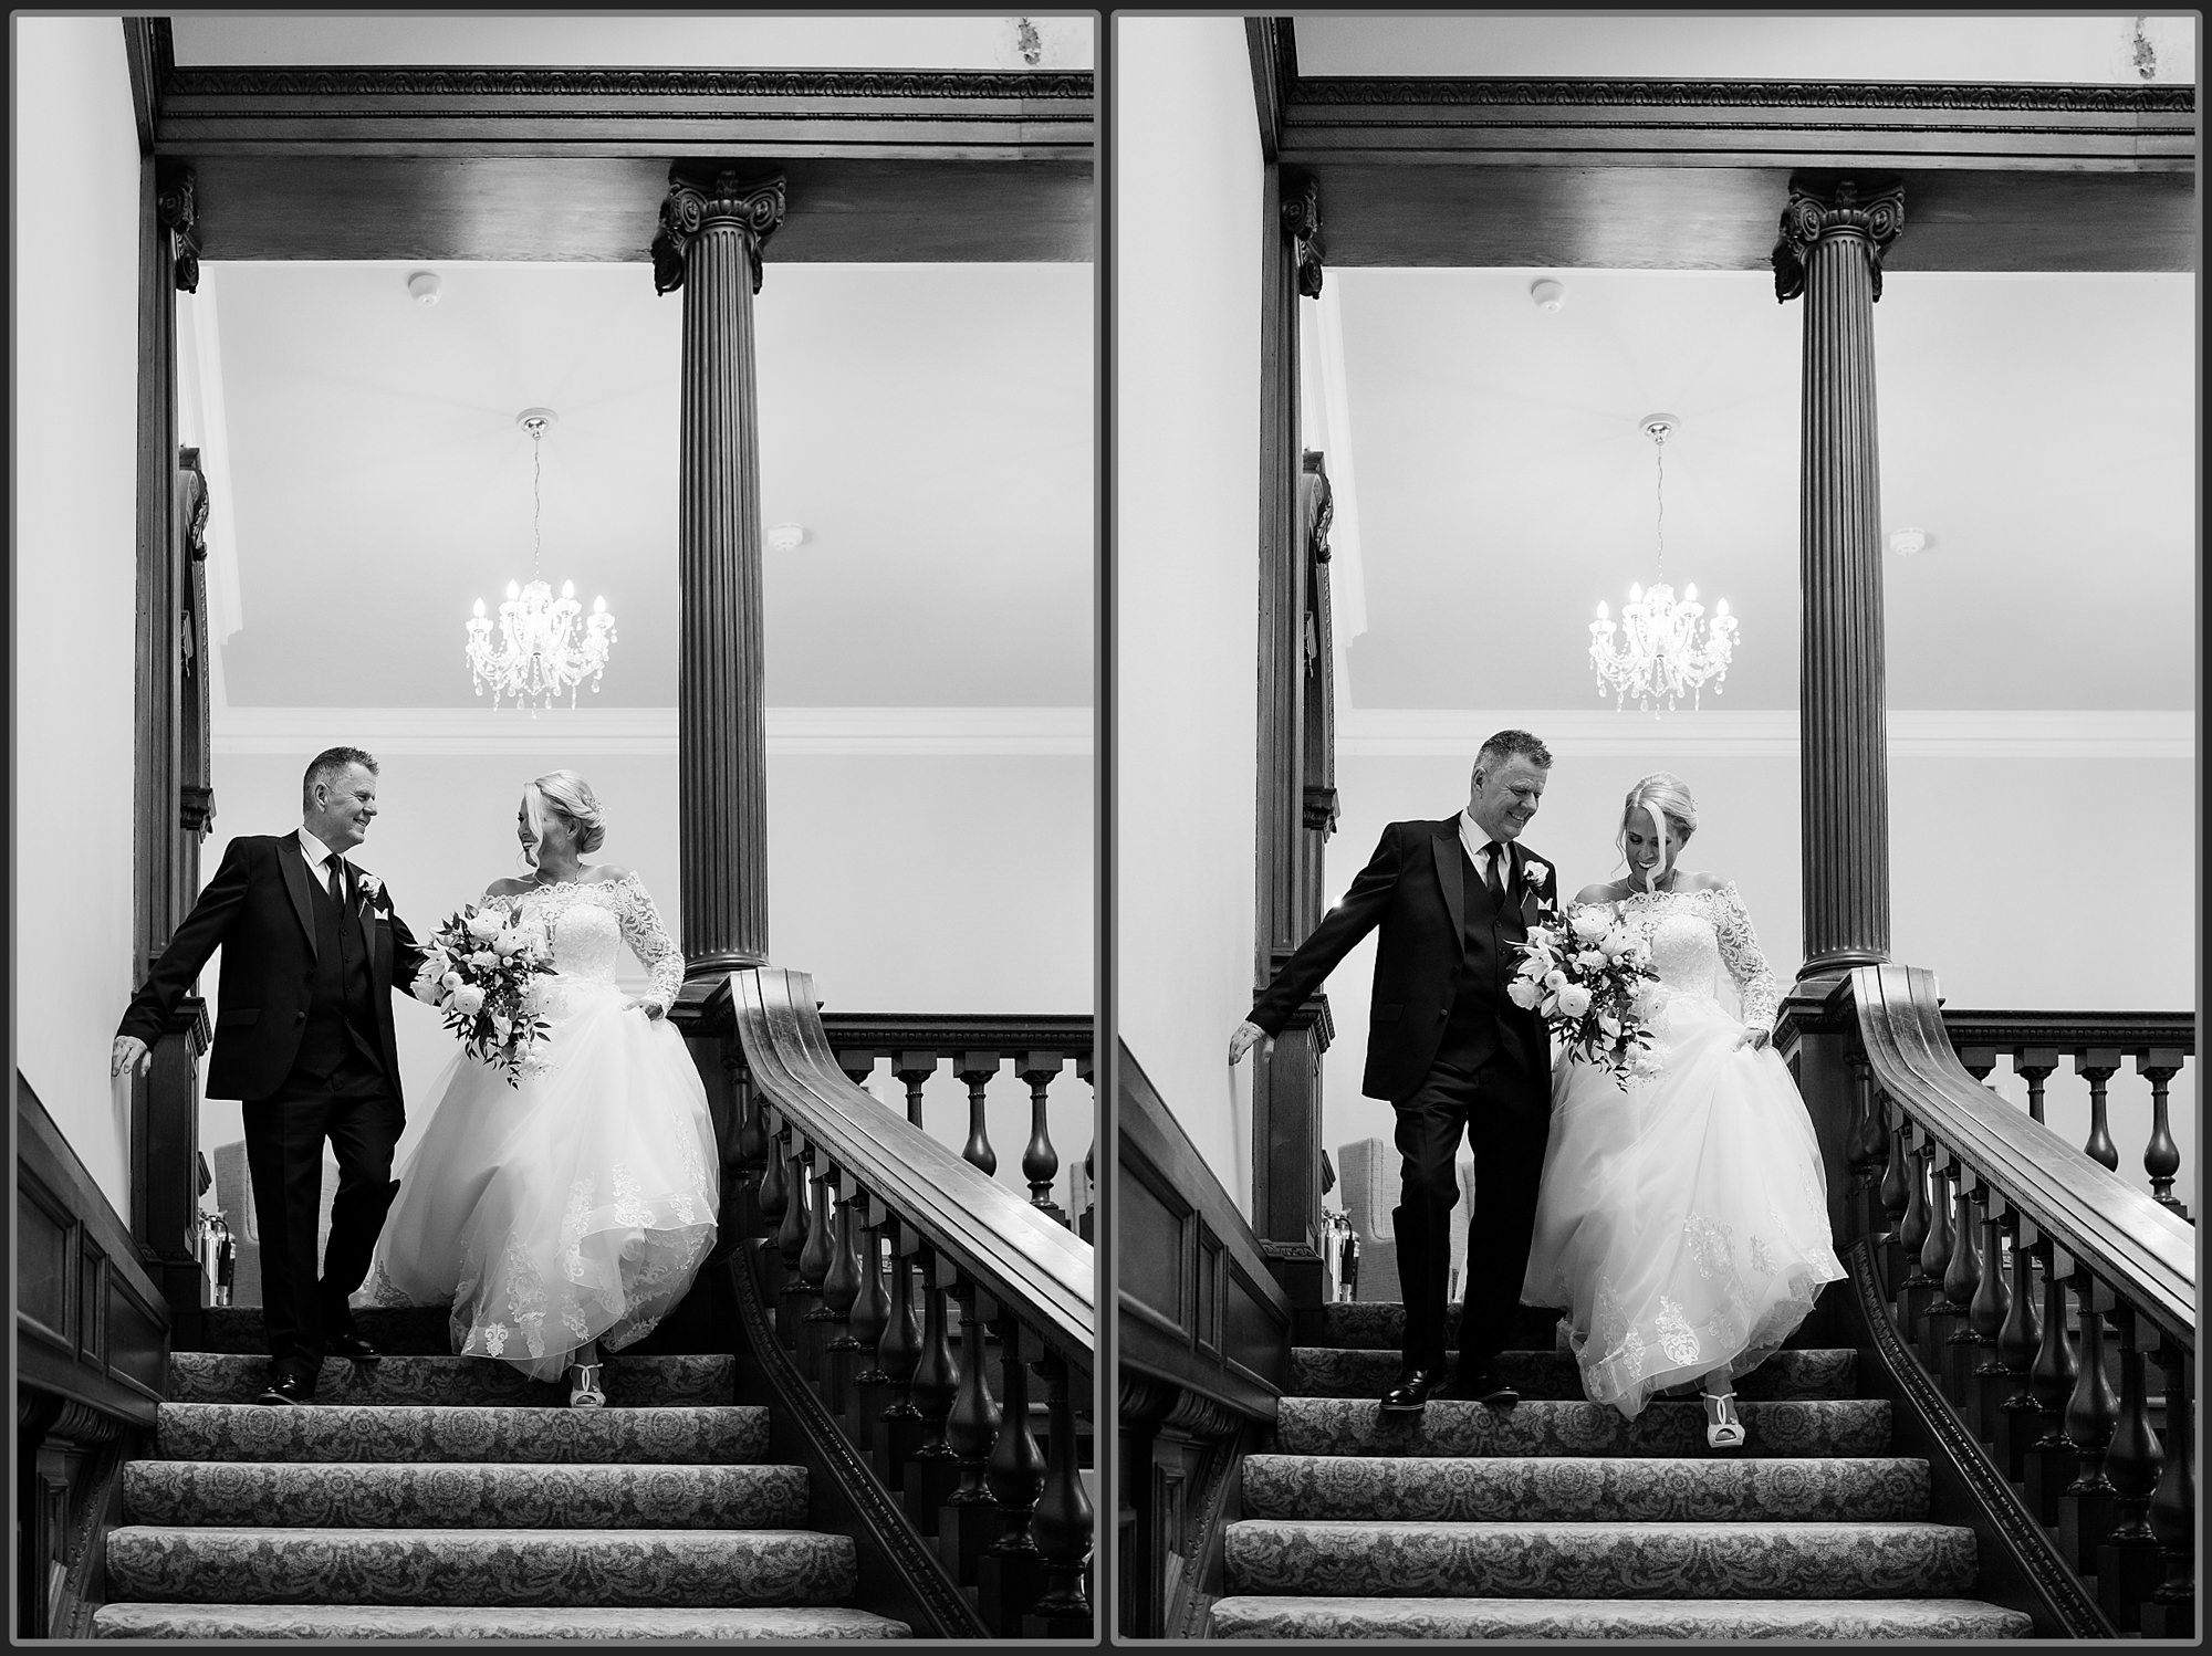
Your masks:
{"label": "patterned carpeted staircase under the couple in the left-hand photo", "polygon": [[852,1607],[849,1537],[807,1528],[807,1470],[763,1466],[734,1360],[606,1362],[608,1406],[447,1355],[442,1309],[363,1311],[374,1366],[314,1406],[250,1402],[259,1309],[170,1355],[155,1459],[124,1468],[104,1638],[905,1638]]}

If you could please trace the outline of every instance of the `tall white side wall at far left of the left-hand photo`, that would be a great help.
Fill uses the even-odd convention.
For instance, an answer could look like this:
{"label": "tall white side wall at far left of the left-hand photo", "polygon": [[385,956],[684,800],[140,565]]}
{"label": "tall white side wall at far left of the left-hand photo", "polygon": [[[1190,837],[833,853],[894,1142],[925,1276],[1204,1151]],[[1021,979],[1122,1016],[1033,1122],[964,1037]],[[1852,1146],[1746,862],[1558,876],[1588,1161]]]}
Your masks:
{"label": "tall white side wall at far left of the left-hand photo", "polygon": [[137,124],[115,18],[13,33],[15,1068],[128,1214]]}

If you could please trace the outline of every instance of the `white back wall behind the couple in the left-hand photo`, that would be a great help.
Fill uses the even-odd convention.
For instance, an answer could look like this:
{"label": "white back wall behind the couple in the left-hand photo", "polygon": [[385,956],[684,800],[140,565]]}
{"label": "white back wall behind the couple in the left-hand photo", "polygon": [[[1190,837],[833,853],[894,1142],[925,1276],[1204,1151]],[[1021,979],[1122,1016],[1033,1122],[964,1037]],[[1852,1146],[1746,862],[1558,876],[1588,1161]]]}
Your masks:
{"label": "white back wall behind the couple in the left-hand photo", "polygon": [[[380,816],[354,862],[383,876],[418,935],[520,871],[513,820],[522,785],[557,761],[378,750],[372,736],[347,730],[327,741],[365,741],[383,765]],[[232,834],[299,827],[299,774],[310,756],[217,747],[221,818],[206,873]],[[681,944],[675,756],[586,754],[571,763],[608,814],[606,845],[591,860],[635,869]],[[1095,811],[1086,756],[772,754],[768,800],[770,957],[810,971],[830,1010],[1091,1013]],[[217,968],[201,977],[208,995]],[[626,982],[644,986],[628,955],[622,968]],[[427,1006],[398,1004],[394,1024],[409,1105],[405,1154],[456,1048]],[[902,1105],[902,1088],[885,1090]],[[1022,1187],[1029,1092],[1002,1072],[987,1097],[1000,1178]],[[1091,1094],[1066,1070],[1048,1097],[1053,1143],[1068,1163],[1091,1147]],[[940,1077],[925,1094],[925,1125],[964,1143],[967,1090]],[[237,1103],[201,1105],[201,1145],[239,1136]]]}

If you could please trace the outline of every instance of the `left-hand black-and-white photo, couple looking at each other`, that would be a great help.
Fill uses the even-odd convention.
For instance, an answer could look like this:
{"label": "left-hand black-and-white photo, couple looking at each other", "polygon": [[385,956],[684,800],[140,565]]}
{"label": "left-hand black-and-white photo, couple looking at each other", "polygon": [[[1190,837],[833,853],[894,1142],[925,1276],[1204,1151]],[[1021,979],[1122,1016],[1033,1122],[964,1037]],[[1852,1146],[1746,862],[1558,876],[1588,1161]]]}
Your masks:
{"label": "left-hand black-and-white photo, couple looking at each other", "polygon": [[1097,29],[11,18],[18,1638],[1095,1638]]}

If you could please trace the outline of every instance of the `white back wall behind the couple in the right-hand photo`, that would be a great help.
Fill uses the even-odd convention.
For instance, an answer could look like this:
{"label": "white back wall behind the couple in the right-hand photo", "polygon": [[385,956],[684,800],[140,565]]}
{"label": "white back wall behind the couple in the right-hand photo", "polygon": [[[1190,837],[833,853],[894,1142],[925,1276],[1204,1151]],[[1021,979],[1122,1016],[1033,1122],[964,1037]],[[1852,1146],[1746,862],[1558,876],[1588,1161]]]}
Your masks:
{"label": "white back wall behind the couple in the right-hand photo", "polygon": [[[1506,716],[1500,716],[1504,721]],[[1537,736],[1544,725],[1526,714]],[[1648,716],[1621,714],[1637,725]],[[1694,730],[1677,714],[1683,732]],[[1635,741],[1624,725],[1624,741]],[[1475,738],[1480,743],[1480,736]],[[1798,763],[1792,754],[1670,756],[1652,734],[1644,752],[1610,743],[1577,752],[1553,747],[1544,805],[1526,845],[1559,869],[1564,893],[1619,873],[1613,829],[1628,787],[1652,769],[1672,769],[1697,796],[1699,834],[1690,867],[1730,876],[1759,931],[1761,951],[1787,986],[1803,962],[1803,867],[1798,860]],[[1343,818],[1329,842],[1329,900],[1343,895],[1367,862],[1385,822],[1438,818],[1467,800],[1460,756],[1349,756],[1338,761]],[[2095,763],[2099,809],[2093,858],[2070,895],[2053,891],[2048,840],[2059,780],[2084,774],[2079,758],[1936,758],[1889,761],[1889,915],[1891,960],[1938,973],[1947,1004],[1978,1010],[2185,1010],[2197,1004],[2197,840],[2194,763],[2185,758],[2115,758]],[[2174,924],[2124,924],[2157,891],[2154,909]],[[2126,971],[2115,962],[2126,953]],[[1360,1097],[1367,1050],[1367,991],[1374,940],[1360,944],[1329,977],[1336,1044],[1325,1059],[1327,1123],[1323,1143],[1391,1136],[1387,1103]],[[2000,1063],[1991,1077],[2008,1097],[2026,1088]],[[2119,1174],[2143,1185],[2141,1156],[2150,1136],[2150,1088],[2132,1068],[2112,1079],[2112,1141]],[[2068,1072],[2048,1083],[2048,1123],[2068,1143],[2088,1136],[2088,1088]],[[2194,1061],[2172,1088],[2181,1176],[2174,1194],[2194,1209],[2197,1081]]]}

